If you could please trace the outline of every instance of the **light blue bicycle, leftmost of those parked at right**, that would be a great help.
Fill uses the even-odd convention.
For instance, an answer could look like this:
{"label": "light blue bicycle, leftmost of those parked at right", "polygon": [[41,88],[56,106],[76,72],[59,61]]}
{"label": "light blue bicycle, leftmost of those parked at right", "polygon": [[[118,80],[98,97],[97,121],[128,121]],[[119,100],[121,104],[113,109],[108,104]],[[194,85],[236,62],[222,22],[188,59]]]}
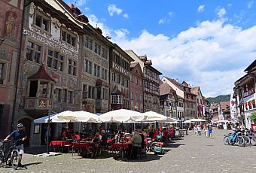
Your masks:
{"label": "light blue bicycle, leftmost of those parked at right", "polygon": [[224,141],[225,145],[236,144],[239,147],[243,147],[245,144],[245,140],[244,140],[244,138],[242,138],[241,132],[237,132],[237,131],[235,131],[233,133],[229,133],[228,135],[224,135],[223,141]]}

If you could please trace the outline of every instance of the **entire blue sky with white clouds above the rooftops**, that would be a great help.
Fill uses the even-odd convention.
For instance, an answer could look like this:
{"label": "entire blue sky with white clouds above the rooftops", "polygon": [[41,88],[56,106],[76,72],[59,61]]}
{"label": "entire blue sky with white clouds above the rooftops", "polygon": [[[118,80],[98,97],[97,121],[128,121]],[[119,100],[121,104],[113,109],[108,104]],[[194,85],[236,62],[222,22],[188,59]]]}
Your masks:
{"label": "entire blue sky with white clouds above the rooftops", "polygon": [[200,86],[206,97],[232,93],[256,57],[256,1],[65,2],[123,50],[147,54],[165,76]]}

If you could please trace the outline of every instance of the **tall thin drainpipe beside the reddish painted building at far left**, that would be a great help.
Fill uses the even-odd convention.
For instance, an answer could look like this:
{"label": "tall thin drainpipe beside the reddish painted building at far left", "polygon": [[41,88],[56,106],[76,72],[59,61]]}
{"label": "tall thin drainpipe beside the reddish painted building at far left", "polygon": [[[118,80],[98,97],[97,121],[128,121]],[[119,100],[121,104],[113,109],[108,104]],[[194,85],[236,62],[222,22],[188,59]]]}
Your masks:
{"label": "tall thin drainpipe beside the reddish painted building at far left", "polygon": [[21,27],[20,27],[20,45],[19,45],[19,52],[18,52],[18,67],[17,67],[17,78],[16,78],[16,81],[14,83],[15,85],[15,93],[14,93],[14,106],[13,106],[13,111],[12,111],[12,116],[11,116],[11,131],[14,127],[14,115],[15,115],[15,110],[16,110],[16,105],[17,105],[17,93],[18,93],[18,83],[19,83],[19,74],[20,74],[20,59],[21,59],[21,47],[22,47],[22,44],[23,44],[23,27],[24,27],[24,22],[25,22],[25,8],[30,5],[33,1],[30,1],[26,4],[26,0],[24,0],[23,2],[23,14],[22,14],[22,20],[21,20]]}

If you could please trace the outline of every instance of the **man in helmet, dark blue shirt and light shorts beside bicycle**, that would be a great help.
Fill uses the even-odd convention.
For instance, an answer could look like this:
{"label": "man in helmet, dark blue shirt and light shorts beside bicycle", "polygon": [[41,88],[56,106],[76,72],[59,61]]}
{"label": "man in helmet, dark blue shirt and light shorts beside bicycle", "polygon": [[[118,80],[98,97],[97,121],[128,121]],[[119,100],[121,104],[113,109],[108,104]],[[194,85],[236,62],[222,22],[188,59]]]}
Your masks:
{"label": "man in helmet, dark blue shirt and light shorts beside bicycle", "polygon": [[[17,125],[17,130],[14,130],[14,132],[11,132],[11,134],[5,138],[5,141],[8,141],[10,138],[13,138],[14,141],[17,141],[16,149],[20,153],[20,156],[18,157],[18,166],[19,167],[23,167],[23,165],[21,164],[21,159],[22,159],[22,156],[24,153],[23,141],[25,141],[27,138],[26,133],[23,130],[23,127],[24,127],[23,124],[19,123]],[[11,159],[9,159],[9,160],[11,160]]]}

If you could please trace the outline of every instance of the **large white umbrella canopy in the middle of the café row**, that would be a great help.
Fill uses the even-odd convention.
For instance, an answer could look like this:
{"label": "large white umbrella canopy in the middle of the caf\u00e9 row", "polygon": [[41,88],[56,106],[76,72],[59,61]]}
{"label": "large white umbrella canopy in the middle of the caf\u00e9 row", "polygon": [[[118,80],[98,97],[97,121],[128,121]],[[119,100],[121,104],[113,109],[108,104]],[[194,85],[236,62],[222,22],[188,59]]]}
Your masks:
{"label": "large white umbrella canopy in the middle of the caf\u00e9 row", "polygon": [[142,113],[127,109],[117,109],[99,115],[100,121],[113,123],[133,123],[142,121],[144,118],[145,115],[143,115]]}

